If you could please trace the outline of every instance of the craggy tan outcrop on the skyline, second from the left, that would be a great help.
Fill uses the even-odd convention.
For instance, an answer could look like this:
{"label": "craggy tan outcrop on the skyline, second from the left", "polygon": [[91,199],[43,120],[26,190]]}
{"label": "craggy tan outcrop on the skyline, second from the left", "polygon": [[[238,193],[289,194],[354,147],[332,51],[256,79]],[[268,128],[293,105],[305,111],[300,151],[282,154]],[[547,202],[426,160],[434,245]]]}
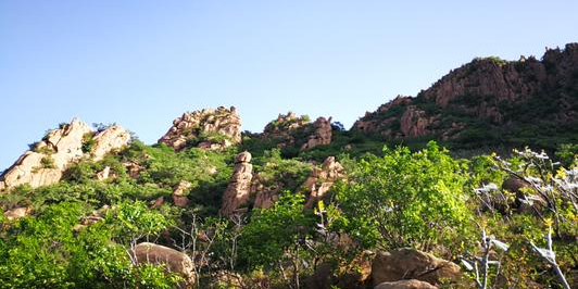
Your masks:
{"label": "craggy tan outcrop on the skyline, second from the left", "polygon": [[235,106],[187,112],[173,122],[161,142],[176,151],[190,147],[224,149],[241,142],[241,118]]}

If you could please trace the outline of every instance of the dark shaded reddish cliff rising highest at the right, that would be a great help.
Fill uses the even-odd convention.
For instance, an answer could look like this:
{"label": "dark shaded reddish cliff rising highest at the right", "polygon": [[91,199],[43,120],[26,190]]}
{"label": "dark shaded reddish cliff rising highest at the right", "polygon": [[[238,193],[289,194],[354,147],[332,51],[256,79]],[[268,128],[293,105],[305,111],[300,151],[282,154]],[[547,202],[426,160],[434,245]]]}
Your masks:
{"label": "dark shaded reddish cliff rising highest at the right", "polygon": [[575,142],[578,43],[548,50],[542,60],[476,59],[415,98],[400,96],[367,113],[353,129],[385,139],[428,138],[465,147],[551,143],[562,131],[561,141]]}

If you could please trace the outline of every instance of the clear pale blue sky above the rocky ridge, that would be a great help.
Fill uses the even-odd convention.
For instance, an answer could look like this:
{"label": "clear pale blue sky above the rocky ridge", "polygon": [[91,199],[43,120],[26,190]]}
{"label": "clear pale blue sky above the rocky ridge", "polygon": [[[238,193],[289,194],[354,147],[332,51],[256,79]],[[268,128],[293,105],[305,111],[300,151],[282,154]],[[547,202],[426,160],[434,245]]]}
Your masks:
{"label": "clear pale blue sky above the rocky ridge", "polygon": [[578,1],[0,0],[0,171],[77,116],[147,143],[185,111],[345,126],[475,56],[578,41]]}

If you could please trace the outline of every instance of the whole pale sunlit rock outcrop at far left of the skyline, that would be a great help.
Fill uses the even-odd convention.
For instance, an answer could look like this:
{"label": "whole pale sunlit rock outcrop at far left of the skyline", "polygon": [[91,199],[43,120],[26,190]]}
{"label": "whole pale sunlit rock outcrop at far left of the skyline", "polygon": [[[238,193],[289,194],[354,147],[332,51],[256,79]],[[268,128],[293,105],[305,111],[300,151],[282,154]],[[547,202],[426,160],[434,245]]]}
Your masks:
{"label": "whole pale sunlit rock outcrop at far left of the skyline", "polygon": [[[113,125],[95,133],[86,123],[73,120],[49,131],[0,176],[0,189],[28,184],[33,188],[58,183],[66,167],[81,158],[100,160],[126,146],[130,135]],[[91,144],[91,146],[88,146]]]}

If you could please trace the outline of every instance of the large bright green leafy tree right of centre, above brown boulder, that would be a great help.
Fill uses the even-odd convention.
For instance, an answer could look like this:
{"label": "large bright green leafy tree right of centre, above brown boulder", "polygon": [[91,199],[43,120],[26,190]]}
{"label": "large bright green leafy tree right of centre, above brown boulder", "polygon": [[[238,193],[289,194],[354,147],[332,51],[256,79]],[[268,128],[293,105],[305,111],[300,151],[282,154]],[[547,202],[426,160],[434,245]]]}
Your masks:
{"label": "large bright green leafy tree right of centre, above brown boulder", "polygon": [[356,226],[377,230],[379,246],[430,249],[467,227],[467,174],[435,142],[412,153],[384,149],[354,165],[348,181],[337,186],[337,201]]}

